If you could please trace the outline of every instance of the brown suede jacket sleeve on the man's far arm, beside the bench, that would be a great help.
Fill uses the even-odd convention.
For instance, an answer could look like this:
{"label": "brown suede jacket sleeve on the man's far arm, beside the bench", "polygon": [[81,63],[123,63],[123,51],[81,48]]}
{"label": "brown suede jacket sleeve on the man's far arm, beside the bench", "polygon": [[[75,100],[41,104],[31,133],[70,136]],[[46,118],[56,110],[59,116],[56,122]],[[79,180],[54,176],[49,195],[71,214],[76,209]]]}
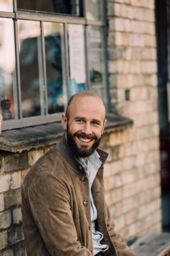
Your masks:
{"label": "brown suede jacket sleeve on the man's far arm, beside the bench", "polygon": [[106,214],[106,225],[108,232],[111,236],[111,240],[116,248],[116,252],[118,256],[138,256],[135,252],[133,252],[127,245],[124,239],[114,232],[115,224],[111,217],[108,206],[105,202],[105,214]]}

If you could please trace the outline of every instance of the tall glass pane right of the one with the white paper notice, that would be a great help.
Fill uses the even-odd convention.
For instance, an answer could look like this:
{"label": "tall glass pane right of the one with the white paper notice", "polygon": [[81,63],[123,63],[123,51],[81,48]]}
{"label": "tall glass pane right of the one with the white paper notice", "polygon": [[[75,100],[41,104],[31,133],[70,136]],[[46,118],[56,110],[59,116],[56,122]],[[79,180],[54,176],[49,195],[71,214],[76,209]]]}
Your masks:
{"label": "tall glass pane right of the one with the white paper notice", "polygon": [[98,94],[105,102],[104,58],[100,27],[88,27],[88,43],[91,90]]}

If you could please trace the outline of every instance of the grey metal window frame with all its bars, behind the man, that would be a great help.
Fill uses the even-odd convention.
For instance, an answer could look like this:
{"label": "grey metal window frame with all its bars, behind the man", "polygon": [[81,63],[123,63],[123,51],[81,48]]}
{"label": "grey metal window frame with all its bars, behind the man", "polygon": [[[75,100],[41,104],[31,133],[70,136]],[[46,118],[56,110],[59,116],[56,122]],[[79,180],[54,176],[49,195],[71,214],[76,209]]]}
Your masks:
{"label": "grey metal window frame with all its bars, behind the man", "polygon": [[[14,24],[14,37],[15,37],[15,57],[16,57],[16,93],[15,93],[15,102],[17,105],[17,117],[15,120],[2,121],[2,131],[7,129],[14,129],[20,127],[27,127],[38,124],[51,123],[61,120],[61,115],[63,113],[48,114],[48,103],[47,103],[47,78],[46,78],[46,55],[45,55],[45,45],[44,45],[44,35],[43,35],[43,22],[56,22],[63,23],[64,28],[64,63],[66,70],[66,83],[67,83],[67,96],[70,98],[70,76],[69,76],[69,56],[68,56],[68,31],[67,24],[81,24],[84,25],[84,47],[85,47],[85,70],[86,70],[86,87],[90,90],[90,74],[88,72],[88,35],[87,27],[98,26],[103,28],[103,56],[104,56],[104,71],[105,71],[105,83],[104,87],[107,92],[107,101],[108,101],[108,80],[107,80],[107,56],[106,56],[106,0],[102,1],[102,10],[103,17],[102,20],[87,20],[86,18],[87,10],[87,0],[83,1],[83,11],[84,17],[75,16],[75,15],[61,15],[61,14],[52,14],[46,12],[37,12],[37,11],[24,11],[17,10],[17,0],[13,0],[13,12],[3,12],[0,11],[0,18],[12,18]],[[17,20],[34,20],[40,22],[41,28],[41,53],[42,53],[42,70],[43,70],[43,89],[41,89],[41,94],[43,94],[44,106],[41,109],[41,116],[33,116],[22,118],[21,111],[21,88],[20,88],[20,66],[19,66],[19,41],[18,41],[18,28]],[[41,104],[42,105],[42,104]],[[109,104],[108,104],[109,105]],[[108,106],[106,106],[108,109]],[[44,115],[43,115],[44,113]]]}

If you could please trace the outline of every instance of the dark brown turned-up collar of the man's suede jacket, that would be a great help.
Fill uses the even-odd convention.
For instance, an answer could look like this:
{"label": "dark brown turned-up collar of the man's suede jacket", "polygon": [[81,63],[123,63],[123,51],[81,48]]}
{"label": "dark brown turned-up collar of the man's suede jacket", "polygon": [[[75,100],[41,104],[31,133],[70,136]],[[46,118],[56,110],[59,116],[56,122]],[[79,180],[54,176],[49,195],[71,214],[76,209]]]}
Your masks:
{"label": "dark brown turned-up collar of the man's suede jacket", "polygon": [[[68,146],[67,140],[65,135],[63,134],[62,139],[60,142],[56,145],[57,150],[60,152],[62,157],[66,160],[66,162],[75,170],[78,172],[86,174],[86,170],[84,166],[80,163],[80,161],[75,157],[74,154],[71,153],[70,148]],[[102,165],[104,165],[104,162],[106,161],[108,157],[108,153],[103,151],[100,148],[97,148],[96,151],[100,155],[100,161],[102,162]]]}

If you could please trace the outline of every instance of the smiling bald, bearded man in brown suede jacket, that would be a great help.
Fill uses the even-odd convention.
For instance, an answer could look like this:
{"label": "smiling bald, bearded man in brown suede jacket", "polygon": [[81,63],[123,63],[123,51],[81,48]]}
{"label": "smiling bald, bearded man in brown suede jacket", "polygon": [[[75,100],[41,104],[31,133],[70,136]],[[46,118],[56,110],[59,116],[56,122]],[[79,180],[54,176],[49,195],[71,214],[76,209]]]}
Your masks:
{"label": "smiling bald, bearded man in brown suede jacket", "polygon": [[64,135],[29,171],[22,185],[27,256],[137,256],[114,233],[104,200],[98,148],[105,108],[91,91],[75,94],[62,115]]}

